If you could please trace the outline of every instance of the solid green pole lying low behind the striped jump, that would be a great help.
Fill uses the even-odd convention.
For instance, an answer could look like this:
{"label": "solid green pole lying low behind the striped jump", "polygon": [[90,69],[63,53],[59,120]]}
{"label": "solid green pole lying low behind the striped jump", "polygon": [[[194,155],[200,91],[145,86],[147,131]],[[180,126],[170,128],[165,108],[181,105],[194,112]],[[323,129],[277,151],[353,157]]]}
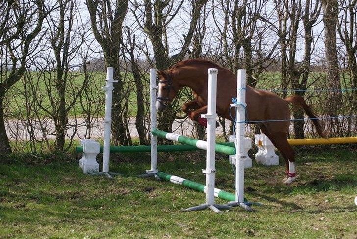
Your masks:
{"label": "solid green pole lying low behind the striped jump", "polygon": [[[234,147],[234,143],[218,143],[228,147]],[[191,145],[158,145],[158,152],[179,152],[179,151],[195,151],[200,150],[196,146]],[[103,153],[103,147],[100,147],[100,152]],[[111,146],[110,153],[141,153],[150,152],[150,145],[138,145],[138,146]],[[83,153],[83,147],[77,146],[76,153]]]}

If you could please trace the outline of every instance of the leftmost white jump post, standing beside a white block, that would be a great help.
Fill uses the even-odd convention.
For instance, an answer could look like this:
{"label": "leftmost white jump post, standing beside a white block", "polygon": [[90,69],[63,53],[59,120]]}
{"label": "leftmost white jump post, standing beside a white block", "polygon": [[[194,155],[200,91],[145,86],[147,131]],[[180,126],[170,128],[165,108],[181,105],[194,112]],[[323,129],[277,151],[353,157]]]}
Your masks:
{"label": "leftmost white jump post, standing beside a white block", "polygon": [[110,131],[111,131],[111,109],[113,98],[113,83],[118,83],[118,80],[113,79],[113,67],[106,68],[106,85],[102,87],[105,90],[105,116],[104,116],[104,147],[103,147],[103,171],[99,173],[92,173],[92,175],[106,175],[112,178],[118,173],[109,172],[109,158],[110,158]]}

